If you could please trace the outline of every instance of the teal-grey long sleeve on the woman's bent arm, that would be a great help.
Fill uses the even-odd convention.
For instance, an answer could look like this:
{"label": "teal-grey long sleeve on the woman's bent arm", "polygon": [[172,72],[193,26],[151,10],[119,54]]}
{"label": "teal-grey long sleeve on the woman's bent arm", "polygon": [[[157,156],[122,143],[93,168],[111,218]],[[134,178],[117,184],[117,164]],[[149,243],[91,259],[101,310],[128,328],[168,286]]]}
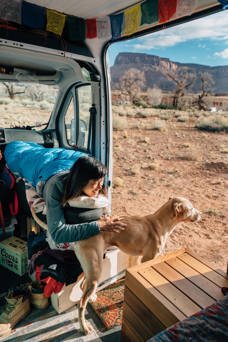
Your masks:
{"label": "teal-grey long sleeve on the woman's bent arm", "polygon": [[63,171],[52,176],[43,190],[48,229],[52,239],[58,244],[82,240],[100,233],[96,221],[83,224],[66,223],[61,198],[64,191],[64,179],[68,172]]}

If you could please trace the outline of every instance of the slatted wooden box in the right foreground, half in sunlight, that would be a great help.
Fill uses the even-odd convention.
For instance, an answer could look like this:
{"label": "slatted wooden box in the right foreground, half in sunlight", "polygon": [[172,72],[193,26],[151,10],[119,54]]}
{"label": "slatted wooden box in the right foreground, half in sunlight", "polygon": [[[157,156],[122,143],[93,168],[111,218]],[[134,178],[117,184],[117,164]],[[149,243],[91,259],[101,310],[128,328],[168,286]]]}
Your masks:
{"label": "slatted wooden box in the right foreground, half in sunlight", "polygon": [[144,342],[224,297],[228,274],[187,248],[126,270],[122,342]]}

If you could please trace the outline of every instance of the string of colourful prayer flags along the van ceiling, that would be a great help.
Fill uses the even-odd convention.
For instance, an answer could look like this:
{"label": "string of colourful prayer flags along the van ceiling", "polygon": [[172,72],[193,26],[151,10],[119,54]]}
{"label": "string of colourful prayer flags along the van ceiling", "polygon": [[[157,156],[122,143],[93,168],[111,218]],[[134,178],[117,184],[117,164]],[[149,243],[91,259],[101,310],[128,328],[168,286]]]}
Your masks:
{"label": "string of colourful prayer flags along the van ceiling", "polygon": [[[78,18],[30,4],[22,0],[0,0],[0,19],[29,28],[51,31],[70,41],[85,39],[118,40],[133,35],[139,26],[165,24],[171,18],[191,15],[198,0],[146,0],[118,14],[104,18]],[[228,0],[218,0],[223,8]],[[17,29],[14,27],[14,29]]]}

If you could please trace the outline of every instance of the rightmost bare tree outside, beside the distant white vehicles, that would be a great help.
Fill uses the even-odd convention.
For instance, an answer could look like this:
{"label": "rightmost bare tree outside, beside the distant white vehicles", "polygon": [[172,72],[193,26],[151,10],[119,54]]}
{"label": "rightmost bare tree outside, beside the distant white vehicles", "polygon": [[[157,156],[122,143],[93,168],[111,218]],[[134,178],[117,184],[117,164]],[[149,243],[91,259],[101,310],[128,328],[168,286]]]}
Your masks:
{"label": "rightmost bare tree outside, beside the distant white vehicles", "polygon": [[[208,71],[201,72],[199,73],[199,75],[202,81],[202,92],[200,95],[198,95],[198,100],[192,102],[192,104],[197,104],[199,110],[204,110],[208,105],[208,103],[205,102],[205,97],[210,94],[211,88],[214,84],[214,80],[212,75]],[[208,89],[206,90],[206,88]]]}

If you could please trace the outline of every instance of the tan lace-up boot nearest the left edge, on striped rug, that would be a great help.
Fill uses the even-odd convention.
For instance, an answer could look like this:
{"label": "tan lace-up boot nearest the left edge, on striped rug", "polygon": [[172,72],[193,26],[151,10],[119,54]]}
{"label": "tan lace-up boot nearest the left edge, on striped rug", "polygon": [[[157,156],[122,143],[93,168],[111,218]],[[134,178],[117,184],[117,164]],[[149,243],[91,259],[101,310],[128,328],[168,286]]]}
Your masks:
{"label": "tan lace-up boot nearest the left edge, on striped rug", "polygon": [[7,297],[5,296],[5,301],[0,315],[0,335],[9,332],[31,310],[26,289],[10,290]]}

